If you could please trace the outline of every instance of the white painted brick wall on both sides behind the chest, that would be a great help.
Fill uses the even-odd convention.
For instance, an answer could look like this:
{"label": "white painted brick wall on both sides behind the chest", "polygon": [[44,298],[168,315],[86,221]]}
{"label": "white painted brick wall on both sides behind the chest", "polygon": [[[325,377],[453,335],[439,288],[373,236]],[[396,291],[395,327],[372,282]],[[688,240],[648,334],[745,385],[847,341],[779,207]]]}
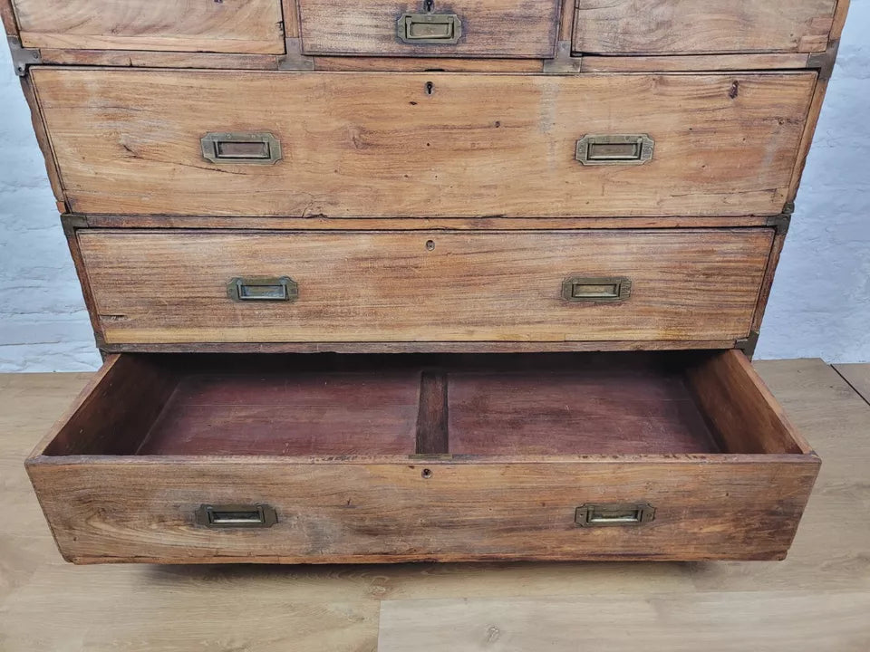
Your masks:
{"label": "white painted brick wall on both sides behind the chest", "polygon": [[[870,361],[870,0],[853,0],[757,358]],[[30,114],[0,43],[0,371],[95,369]]]}

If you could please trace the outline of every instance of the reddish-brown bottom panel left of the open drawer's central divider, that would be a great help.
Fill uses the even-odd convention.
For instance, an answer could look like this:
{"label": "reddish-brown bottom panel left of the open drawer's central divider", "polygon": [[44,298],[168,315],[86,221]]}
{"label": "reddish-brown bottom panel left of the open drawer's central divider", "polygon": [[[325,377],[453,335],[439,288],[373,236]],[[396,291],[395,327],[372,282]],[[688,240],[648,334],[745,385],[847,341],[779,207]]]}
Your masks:
{"label": "reddish-brown bottom panel left of the open drawer's central divider", "polygon": [[411,455],[419,380],[413,369],[185,375],[134,450],[136,455]]}

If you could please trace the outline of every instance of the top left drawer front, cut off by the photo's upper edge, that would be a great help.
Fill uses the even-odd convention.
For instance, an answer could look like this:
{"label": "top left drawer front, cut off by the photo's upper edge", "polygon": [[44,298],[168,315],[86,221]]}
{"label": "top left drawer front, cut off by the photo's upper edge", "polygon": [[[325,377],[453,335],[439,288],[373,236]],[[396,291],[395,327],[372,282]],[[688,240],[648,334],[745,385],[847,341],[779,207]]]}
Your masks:
{"label": "top left drawer front, cut off by the photo's upper edge", "polygon": [[12,0],[25,47],[283,53],[280,0]]}

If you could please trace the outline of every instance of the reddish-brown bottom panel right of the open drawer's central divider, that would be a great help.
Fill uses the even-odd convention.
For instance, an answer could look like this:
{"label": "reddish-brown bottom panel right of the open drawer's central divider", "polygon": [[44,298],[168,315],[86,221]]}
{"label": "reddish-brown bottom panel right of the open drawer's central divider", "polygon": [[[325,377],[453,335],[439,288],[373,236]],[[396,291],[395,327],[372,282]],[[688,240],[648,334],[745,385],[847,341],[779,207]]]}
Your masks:
{"label": "reddish-brown bottom panel right of the open drawer's central divider", "polygon": [[641,364],[459,371],[448,388],[454,455],[720,452],[680,373]]}

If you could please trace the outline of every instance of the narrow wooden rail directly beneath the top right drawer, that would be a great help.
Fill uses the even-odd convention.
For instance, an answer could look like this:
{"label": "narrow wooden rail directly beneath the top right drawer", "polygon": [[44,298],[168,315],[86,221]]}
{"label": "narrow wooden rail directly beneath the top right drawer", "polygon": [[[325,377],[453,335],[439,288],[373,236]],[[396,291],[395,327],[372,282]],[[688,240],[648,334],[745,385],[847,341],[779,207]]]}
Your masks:
{"label": "narrow wooden rail directly beneath the top right drawer", "polygon": [[580,72],[714,72],[807,68],[806,53],[692,54],[687,56],[589,56]]}

